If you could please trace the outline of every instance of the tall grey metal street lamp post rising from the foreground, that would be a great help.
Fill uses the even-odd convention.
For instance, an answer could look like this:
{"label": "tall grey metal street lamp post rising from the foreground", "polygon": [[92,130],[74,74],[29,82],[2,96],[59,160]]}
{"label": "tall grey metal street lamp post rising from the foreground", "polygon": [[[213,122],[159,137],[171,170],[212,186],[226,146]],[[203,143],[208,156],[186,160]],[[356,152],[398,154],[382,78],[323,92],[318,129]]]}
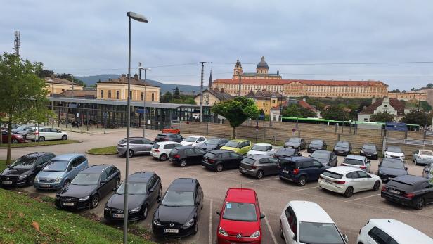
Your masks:
{"label": "tall grey metal street lamp post rising from the foreground", "polygon": [[125,181],[124,181],[124,208],[123,208],[123,243],[128,241],[128,174],[129,174],[129,127],[131,127],[131,20],[147,23],[148,20],[141,14],[128,12],[128,98],[127,98],[127,153],[125,153]]}

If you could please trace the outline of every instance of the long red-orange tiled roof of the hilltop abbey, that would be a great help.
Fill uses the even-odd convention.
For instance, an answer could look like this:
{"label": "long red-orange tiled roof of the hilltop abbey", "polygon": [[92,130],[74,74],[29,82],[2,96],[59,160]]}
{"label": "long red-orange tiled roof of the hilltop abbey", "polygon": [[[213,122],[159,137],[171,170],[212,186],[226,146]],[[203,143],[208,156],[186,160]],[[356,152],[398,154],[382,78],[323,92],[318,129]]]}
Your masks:
{"label": "long red-orange tiled roof of the hilltop abbey", "polygon": [[[380,81],[308,80],[308,79],[241,79],[242,84],[282,85],[298,82],[310,86],[388,86]],[[216,79],[214,84],[239,84],[239,79]]]}

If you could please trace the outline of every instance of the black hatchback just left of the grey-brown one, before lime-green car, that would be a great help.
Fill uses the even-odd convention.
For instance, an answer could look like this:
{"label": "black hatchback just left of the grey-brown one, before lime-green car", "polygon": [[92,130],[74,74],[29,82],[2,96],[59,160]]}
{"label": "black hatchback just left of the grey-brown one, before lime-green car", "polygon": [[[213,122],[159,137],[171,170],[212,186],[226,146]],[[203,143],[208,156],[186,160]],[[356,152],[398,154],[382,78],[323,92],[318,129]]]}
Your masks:
{"label": "black hatchback just left of the grey-brown one, before lime-green car", "polygon": [[243,155],[229,150],[212,150],[203,156],[202,165],[221,172],[223,169],[238,169]]}

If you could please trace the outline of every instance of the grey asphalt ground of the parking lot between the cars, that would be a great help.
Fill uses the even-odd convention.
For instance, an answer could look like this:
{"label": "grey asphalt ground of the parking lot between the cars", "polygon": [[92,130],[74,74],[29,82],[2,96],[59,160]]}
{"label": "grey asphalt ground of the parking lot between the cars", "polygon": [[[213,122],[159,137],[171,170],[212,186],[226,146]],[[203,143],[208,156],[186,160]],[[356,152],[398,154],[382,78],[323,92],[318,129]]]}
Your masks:
{"label": "grey asphalt ground of the parking lot between the cars", "polygon": [[[159,131],[148,131],[148,139]],[[142,130],[133,129],[131,136],[140,136]],[[13,158],[18,158],[25,153],[34,151],[50,151],[56,155],[62,153],[84,153],[90,148],[113,146],[124,137],[124,132],[119,131],[110,134],[75,134],[70,133],[70,139],[78,139],[82,143],[59,146],[41,146],[38,148],[17,148],[13,149]],[[187,135],[185,135],[187,136]],[[308,153],[302,152],[304,156]],[[124,177],[125,159],[117,155],[87,155],[90,165],[112,164],[118,167]],[[0,150],[0,158],[6,158],[6,150]],[[338,163],[343,157],[338,157]],[[377,163],[380,160],[371,160],[373,173],[377,172]],[[179,177],[193,177],[198,179],[205,193],[205,206],[199,219],[200,228],[195,236],[183,238],[181,243],[215,243],[216,227],[218,226],[219,215],[216,210],[221,208],[222,201],[228,188],[243,187],[252,188],[257,192],[262,212],[266,218],[261,221],[263,243],[283,243],[279,236],[279,216],[283,207],[290,200],[309,200],[318,203],[330,214],[342,233],[349,237],[349,243],[355,243],[359,229],[373,218],[392,218],[403,221],[416,229],[433,237],[433,205],[427,205],[423,210],[413,210],[408,207],[394,205],[385,202],[380,198],[380,191],[365,191],[355,193],[351,198],[344,198],[342,195],[323,191],[318,187],[317,182],[309,182],[304,187],[299,187],[290,182],[281,181],[278,176],[266,176],[261,180],[243,176],[238,169],[224,170],[216,173],[202,167],[201,165],[187,166],[184,168],[172,165],[169,161],[160,162],[151,156],[137,156],[131,158],[129,172],[153,171],[162,179],[163,191],[169,184]],[[422,175],[422,166],[415,166],[407,162],[410,174]],[[33,192],[33,187],[25,188],[25,191]],[[55,192],[46,193],[54,196]],[[101,199],[96,209],[85,210],[103,216],[103,207],[110,196]],[[151,220],[156,206],[150,210],[148,219],[138,222],[141,226],[151,229]]]}

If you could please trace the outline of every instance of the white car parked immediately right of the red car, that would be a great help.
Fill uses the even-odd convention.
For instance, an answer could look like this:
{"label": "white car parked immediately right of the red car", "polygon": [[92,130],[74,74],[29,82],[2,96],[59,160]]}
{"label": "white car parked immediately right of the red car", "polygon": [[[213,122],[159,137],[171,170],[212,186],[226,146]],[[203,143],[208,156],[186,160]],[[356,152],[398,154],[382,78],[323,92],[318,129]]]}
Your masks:
{"label": "white car parked immediately right of the red car", "polygon": [[328,213],[308,201],[290,201],[285,205],[280,215],[280,236],[287,244],[349,242]]}

